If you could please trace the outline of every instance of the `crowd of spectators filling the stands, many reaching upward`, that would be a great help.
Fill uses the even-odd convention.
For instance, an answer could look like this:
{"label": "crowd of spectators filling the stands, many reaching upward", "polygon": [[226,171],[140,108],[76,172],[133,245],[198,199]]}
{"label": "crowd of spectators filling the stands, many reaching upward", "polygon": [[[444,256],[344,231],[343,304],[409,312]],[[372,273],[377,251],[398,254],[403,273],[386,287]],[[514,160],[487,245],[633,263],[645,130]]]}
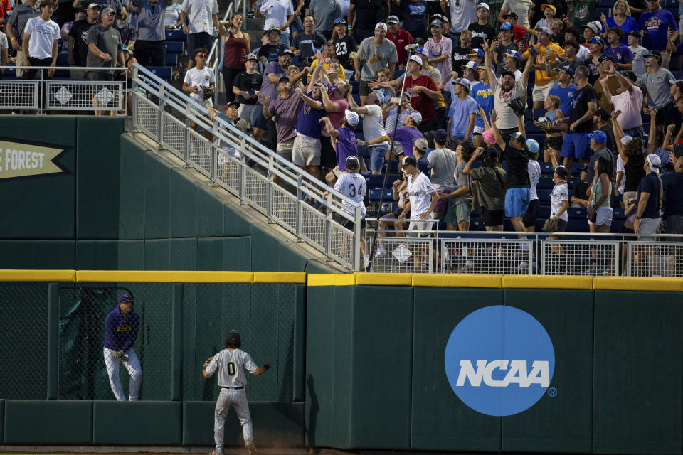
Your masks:
{"label": "crowd of spectators filling the stands, many reaching upward", "polygon": [[[368,186],[340,176],[396,173],[381,227],[470,230],[476,214],[524,238],[573,230],[578,208],[591,232],[683,234],[683,1],[504,0],[494,19],[475,0],[260,0],[258,48],[216,0],[37,1],[0,0],[3,65],[55,66],[63,45],[102,68],[72,77],[126,77],[110,68],[164,66],[181,29],[182,89],[211,116],[358,201]],[[206,61],[216,39],[221,69]]]}

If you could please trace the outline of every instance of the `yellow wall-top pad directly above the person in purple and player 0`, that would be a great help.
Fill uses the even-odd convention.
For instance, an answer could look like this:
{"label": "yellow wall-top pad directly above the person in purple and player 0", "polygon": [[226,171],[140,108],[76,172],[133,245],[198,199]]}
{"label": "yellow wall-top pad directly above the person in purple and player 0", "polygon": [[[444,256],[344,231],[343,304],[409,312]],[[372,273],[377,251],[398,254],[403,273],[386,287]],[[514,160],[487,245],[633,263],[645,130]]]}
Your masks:
{"label": "yellow wall-top pad directly above the person in purple and player 0", "polygon": [[80,270],[77,282],[252,283],[253,272],[184,270]]}

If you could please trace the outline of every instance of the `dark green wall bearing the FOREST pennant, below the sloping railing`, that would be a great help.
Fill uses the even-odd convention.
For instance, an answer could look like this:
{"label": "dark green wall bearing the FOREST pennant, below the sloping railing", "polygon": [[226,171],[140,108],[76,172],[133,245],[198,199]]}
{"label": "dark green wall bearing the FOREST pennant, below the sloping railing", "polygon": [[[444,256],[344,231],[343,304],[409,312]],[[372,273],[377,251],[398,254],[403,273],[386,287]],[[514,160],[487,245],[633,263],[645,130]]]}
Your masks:
{"label": "dark green wall bearing the FOREST pennant, below the sloping railing", "polygon": [[143,149],[123,119],[8,116],[0,144],[56,149],[60,170],[12,177],[2,151],[0,269],[332,271]]}

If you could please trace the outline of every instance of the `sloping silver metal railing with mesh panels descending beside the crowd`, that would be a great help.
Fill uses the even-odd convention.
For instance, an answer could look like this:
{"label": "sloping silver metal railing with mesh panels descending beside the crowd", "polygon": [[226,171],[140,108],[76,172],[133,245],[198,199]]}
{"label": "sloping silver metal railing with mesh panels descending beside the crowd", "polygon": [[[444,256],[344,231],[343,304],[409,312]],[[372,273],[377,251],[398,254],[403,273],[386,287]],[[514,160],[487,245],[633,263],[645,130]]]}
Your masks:
{"label": "sloping silver metal railing with mesh panels descending beside the crowd", "polygon": [[[159,142],[160,148],[291,232],[297,241],[348,269],[361,269],[359,203],[223,119],[209,119],[205,107],[137,64],[132,93],[134,127]],[[353,228],[345,228],[346,223]]]}

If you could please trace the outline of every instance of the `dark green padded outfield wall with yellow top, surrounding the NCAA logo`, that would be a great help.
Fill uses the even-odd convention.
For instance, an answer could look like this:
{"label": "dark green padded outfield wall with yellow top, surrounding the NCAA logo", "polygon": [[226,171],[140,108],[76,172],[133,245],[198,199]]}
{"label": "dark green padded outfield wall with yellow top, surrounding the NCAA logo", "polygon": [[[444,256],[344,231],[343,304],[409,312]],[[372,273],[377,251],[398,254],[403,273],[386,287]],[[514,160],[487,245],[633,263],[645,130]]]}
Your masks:
{"label": "dark green padded outfield wall with yellow top, surrounding the NCAA logo", "polygon": [[[682,279],[309,275],[307,443],[681,454],[682,291]],[[534,316],[555,355],[548,393],[504,417],[465,405],[445,373],[455,326],[492,305]]]}

